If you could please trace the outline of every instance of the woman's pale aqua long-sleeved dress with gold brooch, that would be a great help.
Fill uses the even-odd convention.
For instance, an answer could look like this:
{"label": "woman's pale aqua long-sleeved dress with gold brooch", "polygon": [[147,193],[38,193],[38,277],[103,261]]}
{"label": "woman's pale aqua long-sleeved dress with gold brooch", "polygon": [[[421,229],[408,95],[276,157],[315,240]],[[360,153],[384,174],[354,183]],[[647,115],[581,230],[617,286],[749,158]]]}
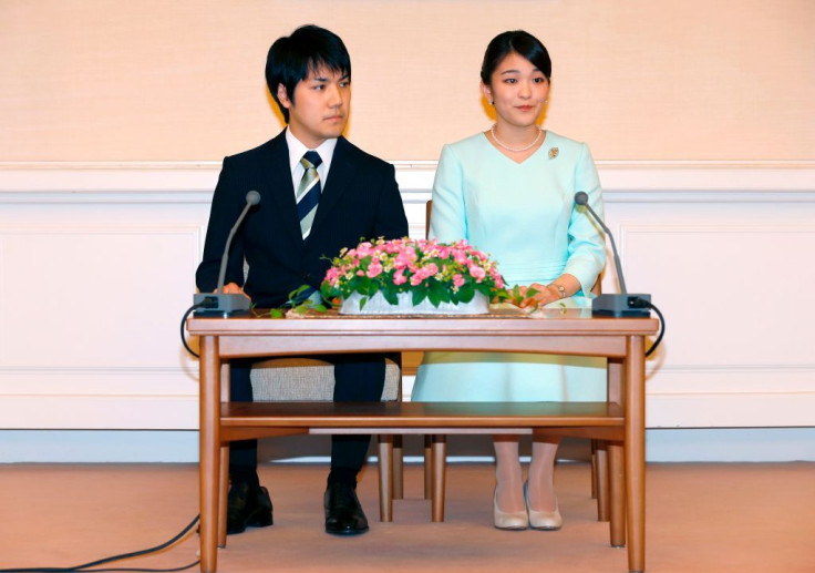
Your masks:
{"label": "woman's pale aqua long-sleeved dress with gold brooch", "polygon": [[[575,193],[602,216],[591,154],[547,131],[518,164],[483,133],[445,145],[433,183],[430,236],[466,238],[498,264],[507,285],[546,285],[564,273],[589,293],[606,263],[605,238]],[[578,297],[579,298],[579,297]],[[606,359],[507,352],[426,352],[414,401],[602,401]]]}

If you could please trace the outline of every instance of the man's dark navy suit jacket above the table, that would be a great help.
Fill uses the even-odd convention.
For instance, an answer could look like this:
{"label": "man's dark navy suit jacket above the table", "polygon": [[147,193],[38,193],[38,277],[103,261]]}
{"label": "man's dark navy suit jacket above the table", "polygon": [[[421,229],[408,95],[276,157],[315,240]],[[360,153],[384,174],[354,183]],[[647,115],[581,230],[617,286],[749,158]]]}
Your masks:
{"label": "man's dark navy suit jacket above the table", "polygon": [[[217,286],[229,229],[246,206],[249,191],[260,193],[233,239],[226,283],[244,286],[258,307],[278,307],[303,284],[320,287],[329,258],[361,238],[407,235],[407,218],[392,165],[364,153],[344,137],[337,141],[328,181],[308,241],[297,216],[285,132],[254,150],[224,160],[213,196],[204,259],[196,273],[202,293]],[[244,258],[249,275],[244,284]]]}

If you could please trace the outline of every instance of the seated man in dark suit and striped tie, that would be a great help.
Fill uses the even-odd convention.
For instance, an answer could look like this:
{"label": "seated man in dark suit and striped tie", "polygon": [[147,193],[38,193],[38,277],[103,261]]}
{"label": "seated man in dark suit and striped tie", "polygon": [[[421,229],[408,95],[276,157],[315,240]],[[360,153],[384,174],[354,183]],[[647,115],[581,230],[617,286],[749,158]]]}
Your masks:
{"label": "seated man in dark suit and striped tie", "polygon": [[[196,283],[200,291],[216,288],[227,235],[247,192],[255,190],[261,201],[233,241],[225,291],[244,293],[258,307],[278,307],[301,285],[319,289],[328,257],[342,247],[355,246],[361,237],[405,236],[407,219],[393,166],[342,136],[351,104],[351,62],[339,37],[305,25],[278,39],[269,50],[266,82],[288,125],[259,147],[224,160]],[[383,356],[323,358],[334,364],[334,400],[381,399]],[[249,370],[247,361],[231,365],[234,401],[251,401]],[[369,436],[332,437],[323,498],[327,533],[368,531],[355,488],[369,443]],[[227,532],[271,525],[271,500],[257,475],[257,442],[233,442],[230,450]]]}

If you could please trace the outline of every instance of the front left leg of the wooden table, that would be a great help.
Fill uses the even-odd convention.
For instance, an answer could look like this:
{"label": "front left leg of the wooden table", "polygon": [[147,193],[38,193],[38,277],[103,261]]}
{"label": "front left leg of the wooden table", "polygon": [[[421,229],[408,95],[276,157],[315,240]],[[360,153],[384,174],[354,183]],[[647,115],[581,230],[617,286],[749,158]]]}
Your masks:
{"label": "front left leg of the wooden table", "polygon": [[220,357],[218,338],[200,337],[199,408],[199,497],[200,571],[215,573],[218,566],[217,523],[220,473]]}

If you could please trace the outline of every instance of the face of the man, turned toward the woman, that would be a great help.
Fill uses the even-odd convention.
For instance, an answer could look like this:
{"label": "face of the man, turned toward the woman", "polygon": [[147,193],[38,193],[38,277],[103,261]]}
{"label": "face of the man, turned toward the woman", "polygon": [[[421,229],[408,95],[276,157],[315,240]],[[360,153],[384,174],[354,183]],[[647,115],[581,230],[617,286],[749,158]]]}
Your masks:
{"label": "face of the man, turned toward the woman", "polygon": [[339,137],[351,109],[351,80],[342,72],[319,68],[295,86],[290,99],[282,84],[277,86],[280,104],[289,111],[289,130],[313,150],[331,137]]}

